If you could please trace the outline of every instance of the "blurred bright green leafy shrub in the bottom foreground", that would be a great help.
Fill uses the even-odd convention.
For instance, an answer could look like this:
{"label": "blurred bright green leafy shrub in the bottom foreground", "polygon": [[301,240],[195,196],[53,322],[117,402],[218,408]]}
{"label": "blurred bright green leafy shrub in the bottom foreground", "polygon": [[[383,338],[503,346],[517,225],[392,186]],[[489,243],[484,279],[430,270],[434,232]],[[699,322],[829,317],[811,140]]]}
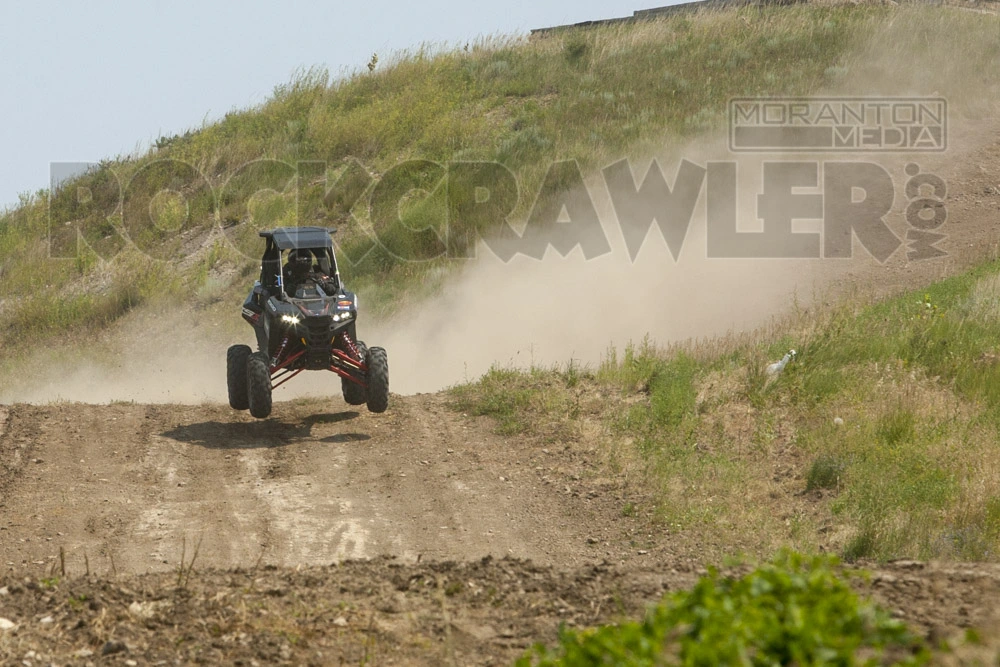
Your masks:
{"label": "blurred bright green leafy shrub in the bottom foreground", "polygon": [[598,665],[920,665],[922,640],[860,599],[836,559],[781,554],[750,574],[715,570],[642,621],[577,631],[535,646],[518,667]]}

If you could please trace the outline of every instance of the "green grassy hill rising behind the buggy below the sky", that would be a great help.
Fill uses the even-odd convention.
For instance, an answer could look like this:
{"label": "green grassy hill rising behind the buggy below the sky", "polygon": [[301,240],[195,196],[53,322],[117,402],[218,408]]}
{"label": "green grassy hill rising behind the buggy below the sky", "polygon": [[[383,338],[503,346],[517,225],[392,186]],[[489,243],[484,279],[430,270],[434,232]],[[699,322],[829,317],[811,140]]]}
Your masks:
{"label": "green grassy hill rising behind the buggy below the sky", "polygon": [[[347,277],[385,313],[455,264],[398,260],[433,257],[440,242],[369,210],[395,165],[498,161],[517,176],[512,217],[523,219],[551,160],[586,172],[693,140],[722,126],[733,96],[849,88],[897,62],[883,92],[933,71],[951,86],[942,93],[974,99],[970,75],[996,85],[996,30],[996,17],[946,8],[770,7],[421,48],[336,80],[305,70],[259,107],[23,195],[0,218],[0,340],[85,335],[165,296],[229,313],[257,270],[256,230],[296,222],[340,227]],[[959,38],[960,66],[939,57]],[[301,161],[325,169],[297,182]],[[410,227],[439,229],[438,176],[428,167],[431,193],[404,206]],[[453,222],[459,252],[475,240],[470,224]],[[372,249],[373,233],[392,252]]]}

